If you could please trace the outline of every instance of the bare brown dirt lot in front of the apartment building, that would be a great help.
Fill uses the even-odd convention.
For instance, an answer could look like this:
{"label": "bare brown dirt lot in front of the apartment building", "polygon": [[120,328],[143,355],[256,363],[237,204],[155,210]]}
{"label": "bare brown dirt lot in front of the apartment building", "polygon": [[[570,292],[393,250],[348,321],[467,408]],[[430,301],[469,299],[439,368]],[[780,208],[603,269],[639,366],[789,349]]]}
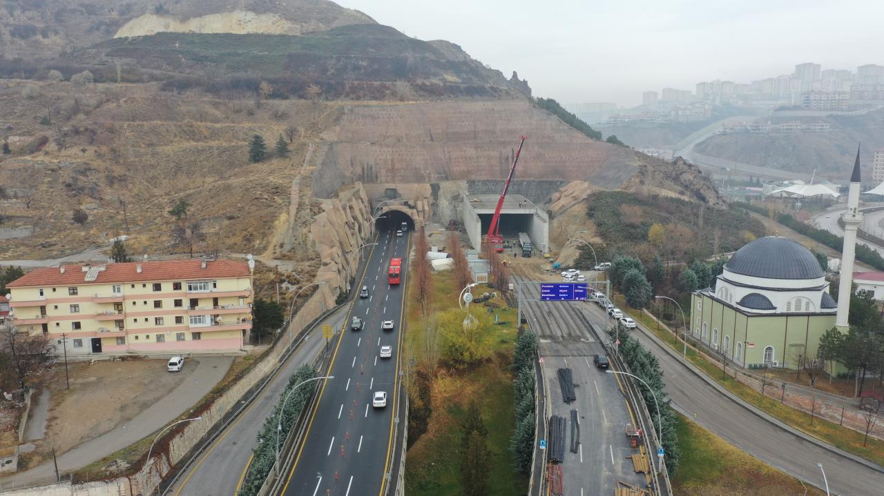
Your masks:
{"label": "bare brown dirt lot in front of the apartment building", "polygon": [[[109,432],[169,394],[194,370],[196,361],[181,372],[166,371],[165,360],[126,360],[96,364],[68,364],[71,389],[65,388],[65,366],[56,364],[51,377],[46,437],[34,443],[34,458],[54,444],[58,455]],[[29,457],[30,458],[30,457]],[[33,466],[38,460],[28,460]]]}

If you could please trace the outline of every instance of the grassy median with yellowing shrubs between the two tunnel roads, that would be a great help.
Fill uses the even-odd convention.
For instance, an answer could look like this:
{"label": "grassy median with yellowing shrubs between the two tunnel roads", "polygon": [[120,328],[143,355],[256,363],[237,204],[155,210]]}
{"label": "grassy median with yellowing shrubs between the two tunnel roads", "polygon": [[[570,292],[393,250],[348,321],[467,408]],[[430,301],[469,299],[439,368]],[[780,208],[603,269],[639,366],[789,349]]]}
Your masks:
{"label": "grassy median with yellowing shrubs between the two tunnel roads", "polygon": [[[451,273],[432,274],[432,297],[437,312],[457,306],[460,289],[453,288]],[[478,295],[492,289],[476,286]],[[514,429],[513,376],[509,370],[517,335],[515,311],[503,305],[499,319],[507,324],[494,326],[489,340],[494,349],[492,358],[474,367],[459,370],[441,366],[431,387],[432,415],[427,432],[408,449],[406,458],[406,492],[416,496],[447,496],[460,494],[461,481],[461,419],[471,400],[478,402],[485,425],[488,426],[488,449],[492,466],[488,475],[489,495],[522,494],[528,478],[513,468],[509,438]],[[420,309],[415,298],[408,299],[406,356],[415,355],[421,327]],[[477,304],[472,305],[475,309]],[[484,307],[483,307],[484,308]]]}

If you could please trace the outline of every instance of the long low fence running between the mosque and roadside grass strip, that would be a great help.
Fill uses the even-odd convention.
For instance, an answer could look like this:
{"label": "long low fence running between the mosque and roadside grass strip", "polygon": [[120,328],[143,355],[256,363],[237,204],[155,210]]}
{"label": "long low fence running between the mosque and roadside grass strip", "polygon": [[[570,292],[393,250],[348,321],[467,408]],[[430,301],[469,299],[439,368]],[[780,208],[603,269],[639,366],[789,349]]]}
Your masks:
{"label": "long low fence running between the mosque and roadside grass strip", "polygon": [[[681,334],[674,333],[666,324],[654,317],[651,312],[643,310],[645,315],[653,319],[660,328],[673,334],[682,341]],[[728,361],[727,357],[720,352],[706,346],[696,336],[688,334],[688,347],[697,355],[715,364],[729,377],[739,381],[745,386],[751,387],[759,395],[779,400],[782,404],[789,405],[796,410],[802,410],[811,416],[824,418],[838,425],[848,427],[862,434],[868,433],[870,437],[884,439],[884,417],[874,410],[861,410],[855,408],[858,402],[855,398],[833,395],[825,391],[819,391],[812,387],[801,386],[785,380],[774,379],[770,376],[759,376],[748,372],[743,367]]]}

